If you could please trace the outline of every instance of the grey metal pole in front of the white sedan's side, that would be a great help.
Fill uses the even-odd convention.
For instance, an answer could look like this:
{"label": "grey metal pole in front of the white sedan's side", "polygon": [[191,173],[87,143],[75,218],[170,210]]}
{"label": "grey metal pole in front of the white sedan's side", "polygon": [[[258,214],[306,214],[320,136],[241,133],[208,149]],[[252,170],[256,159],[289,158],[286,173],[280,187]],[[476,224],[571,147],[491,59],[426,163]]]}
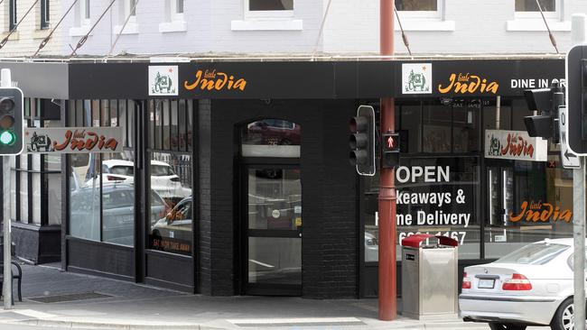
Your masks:
{"label": "grey metal pole in front of the white sedan's side", "polygon": [[585,330],[585,159],[579,160],[581,168],[573,170],[573,311],[574,329]]}

